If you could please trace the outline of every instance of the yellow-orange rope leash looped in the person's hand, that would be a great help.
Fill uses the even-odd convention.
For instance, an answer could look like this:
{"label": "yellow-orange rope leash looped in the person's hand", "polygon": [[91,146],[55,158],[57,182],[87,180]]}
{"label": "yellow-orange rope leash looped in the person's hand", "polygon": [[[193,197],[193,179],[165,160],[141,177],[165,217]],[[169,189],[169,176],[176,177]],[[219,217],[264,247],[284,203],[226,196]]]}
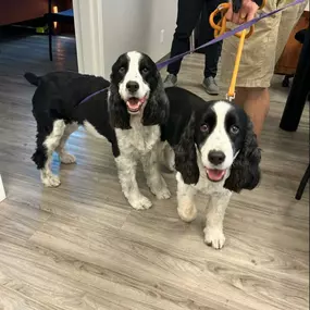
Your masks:
{"label": "yellow-orange rope leash looped in the person's hand", "polygon": [[[265,5],[265,1],[266,0],[262,1],[262,4],[259,8],[259,10],[261,10]],[[231,5],[232,5],[231,3],[222,3],[210,14],[209,23],[211,27],[214,29],[215,38],[231,30],[230,28],[226,27],[226,16],[225,16]],[[214,16],[218,15],[219,13],[221,13],[221,20],[218,24],[215,24]],[[226,98],[230,101],[235,99],[236,80],[237,80],[237,75],[239,71],[239,64],[240,64],[240,59],[241,59],[243,49],[245,45],[245,39],[249,38],[253,34],[253,32],[255,32],[255,26],[252,25],[249,29],[244,29],[243,32],[234,35],[235,37],[239,38],[239,45],[238,45],[237,54],[235,59],[235,66],[234,66],[234,71],[233,71],[233,75],[231,79],[231,85],[228,88],[228,92],[226,95]]]}

